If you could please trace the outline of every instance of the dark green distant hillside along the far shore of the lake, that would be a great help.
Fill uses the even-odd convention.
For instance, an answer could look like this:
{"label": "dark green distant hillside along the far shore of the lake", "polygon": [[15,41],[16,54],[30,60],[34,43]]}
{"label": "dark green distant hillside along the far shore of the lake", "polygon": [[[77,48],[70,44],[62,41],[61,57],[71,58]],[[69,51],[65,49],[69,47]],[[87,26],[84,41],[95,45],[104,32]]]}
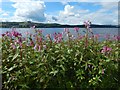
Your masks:
{"label": "dark green distant hillside along the far shore of the lake", "polygon": [[[30,28],[36,26],[36,28],[74,28],[80,27],[84,28],[84,25],[61,25],[57,23],[34,23],[34,22],[1,22],[0,28]],[[118,28],[118,25],[97,25],[92,24],[91,28]]]}

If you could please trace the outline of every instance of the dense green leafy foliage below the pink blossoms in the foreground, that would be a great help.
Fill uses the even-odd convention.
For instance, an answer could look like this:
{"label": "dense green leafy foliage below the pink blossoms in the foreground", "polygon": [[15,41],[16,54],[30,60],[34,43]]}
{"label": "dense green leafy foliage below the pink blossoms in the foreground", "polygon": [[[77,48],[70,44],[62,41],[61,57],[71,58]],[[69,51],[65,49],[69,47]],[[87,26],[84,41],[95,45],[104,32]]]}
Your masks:
{"label": "dense green leafy foliage below the pink blossoms in the foreground", "polygon": [[[80,35],[80,34],[78,34]],[[36,35],[40,37],[41,34]],[[43,37],[43,36],[42,36]],[[22,37],[21,37],[22,38]],[[63,40],[59,43],[44,38],[34,44],[40,51],[27,45],[29,37],[16,44],[17,38],[2,38],[2,81],[3,89],[39,90],[45,88],[118,88],[118,45],[117,41],[94,41],[82,39]],[[29,41],[30,41],[29,40]],[[46,48],[42,46],[46,45]],[[109,53],[101,53],[103,46],[111,47]],[[120,88],[120,87],[119,87]]]}

